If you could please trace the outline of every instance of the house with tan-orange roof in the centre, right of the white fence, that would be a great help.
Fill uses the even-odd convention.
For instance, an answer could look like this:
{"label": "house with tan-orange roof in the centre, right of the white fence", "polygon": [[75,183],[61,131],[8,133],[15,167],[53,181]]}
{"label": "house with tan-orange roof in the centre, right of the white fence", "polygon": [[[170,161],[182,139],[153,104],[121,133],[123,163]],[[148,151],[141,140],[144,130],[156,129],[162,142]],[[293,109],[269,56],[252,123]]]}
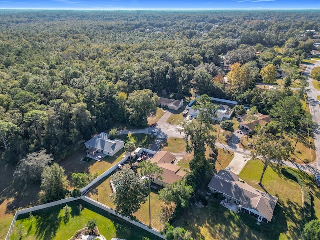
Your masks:
{"label": "house with tan-orange roof in the centre, right of the white fence", "polygon": [[177,180],[182,180],[186,175],[186,172],[181,170],[181,167],[174,165],[175,155],[168,151],[158,151],[151,159],[152,163],[156,163],[163,173],[161,174],[161,179],[152,178],[152,182],[159,186],[166,186],[167,184],[172,184]]}

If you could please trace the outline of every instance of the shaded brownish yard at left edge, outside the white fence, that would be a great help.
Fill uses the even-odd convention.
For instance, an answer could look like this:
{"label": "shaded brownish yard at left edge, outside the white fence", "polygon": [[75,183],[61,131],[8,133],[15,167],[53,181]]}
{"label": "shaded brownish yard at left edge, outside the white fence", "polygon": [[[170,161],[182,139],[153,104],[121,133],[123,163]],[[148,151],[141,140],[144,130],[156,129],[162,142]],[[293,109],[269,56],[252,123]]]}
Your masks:
{"label": "shaded brownish yard at left edge, outside the white fence", "polygon": [[5,239],[14,217],[14,210],[33,206],[38,200],[40,185],[14,180],[15,167],[0,163],[0,239]]}

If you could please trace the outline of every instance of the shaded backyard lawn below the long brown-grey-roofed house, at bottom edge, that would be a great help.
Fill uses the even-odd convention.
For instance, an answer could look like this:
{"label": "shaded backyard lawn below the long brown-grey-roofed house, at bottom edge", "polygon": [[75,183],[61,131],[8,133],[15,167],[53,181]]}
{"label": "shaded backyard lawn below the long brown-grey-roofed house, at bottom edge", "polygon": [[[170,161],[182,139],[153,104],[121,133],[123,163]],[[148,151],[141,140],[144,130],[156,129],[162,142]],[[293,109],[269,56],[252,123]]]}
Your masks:
{"label": "shaded backyard lawn below the long brown-grey-roofed house, at bottom edge", "polygon": [[236,214],[223,207],[221,200],[209,198],[207,207],[188,207],[173,226],[183,227],[192,232],[194,239],[258,240],[278,239],[269,224],[256,224],[256,219],[242,212]]}

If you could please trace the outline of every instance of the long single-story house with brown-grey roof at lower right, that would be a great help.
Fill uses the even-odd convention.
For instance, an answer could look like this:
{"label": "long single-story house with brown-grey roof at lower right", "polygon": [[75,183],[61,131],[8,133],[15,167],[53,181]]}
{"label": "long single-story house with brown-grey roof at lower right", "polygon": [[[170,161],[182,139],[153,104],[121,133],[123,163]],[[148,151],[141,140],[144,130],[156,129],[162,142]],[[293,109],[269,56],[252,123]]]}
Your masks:
{"label": "long single-story house with brown-grey roof at lower right", "polygon": [[239,181],[232,171],[220,170],[215,174],[208,187],[222,194],[228,201],[238,205],[238,210],[247,213],[259,222],[270,222],[278,198]]}

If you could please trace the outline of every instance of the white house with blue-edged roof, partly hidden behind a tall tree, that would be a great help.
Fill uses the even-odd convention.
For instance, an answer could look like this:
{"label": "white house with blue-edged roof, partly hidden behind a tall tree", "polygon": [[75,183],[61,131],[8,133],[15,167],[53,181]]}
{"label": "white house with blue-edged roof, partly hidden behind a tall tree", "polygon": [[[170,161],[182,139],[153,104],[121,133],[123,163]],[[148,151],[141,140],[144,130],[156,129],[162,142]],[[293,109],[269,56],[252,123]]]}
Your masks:
{"label": "white house with blue-edged roof, partly hidden behind a tall tree", "polygon": [[[197,96],[196,98],[199,97],[200,96]],[[196,117],[199,114],[199,110],[192,108],[192,106],[196,103],[196,98],[186,106],[186,109],[189,110],[189,115],[193,117]],[[211,97],[211,100],[213,104],[218,105],[217,116],[212,117],[212,119],[217,121],[222,121],[223,118],[230,119],[233,113],[233,107],[238,104],[237,101],[230,101],[214,97]]]}

